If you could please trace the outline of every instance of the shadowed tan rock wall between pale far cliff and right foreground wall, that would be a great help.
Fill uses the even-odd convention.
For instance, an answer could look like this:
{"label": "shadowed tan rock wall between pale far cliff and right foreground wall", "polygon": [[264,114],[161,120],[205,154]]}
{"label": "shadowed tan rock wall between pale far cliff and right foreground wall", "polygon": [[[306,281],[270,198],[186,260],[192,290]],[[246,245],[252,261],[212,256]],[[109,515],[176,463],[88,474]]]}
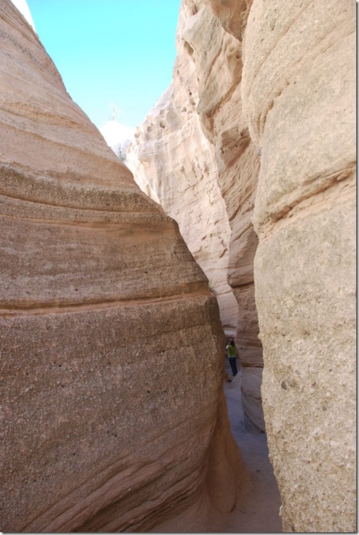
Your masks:
{"label": "shadowed tan rock wall between pale far cliff and right foreground wall", "polygon": [[[232,229],[228,283],[239,310],[236,346],[242,367],[243,410],[248,425],[264,431],[260,392],[263,360],[253,279],[257,235],[251,220],[260,155],[250,139],[241,104],[241,40],[250,1],[225,4],[196,2],[196,10],[187,12],[182,40],[194,50],[197,111],[214,148],[214,169]],[[228,19],[230,13],[235,15]]]}

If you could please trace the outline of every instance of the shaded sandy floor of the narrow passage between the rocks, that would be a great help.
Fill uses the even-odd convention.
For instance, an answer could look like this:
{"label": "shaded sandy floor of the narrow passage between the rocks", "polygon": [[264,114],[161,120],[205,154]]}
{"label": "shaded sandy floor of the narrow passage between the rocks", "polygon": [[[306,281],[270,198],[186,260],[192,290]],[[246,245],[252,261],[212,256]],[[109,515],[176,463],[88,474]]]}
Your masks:
{"label": "shaded sandy floor of the narrow passage between the rocks", "polygon": [[[226,359],[226,371],[231,377]],[[265,433],[248,430],[241,404],[242,370],[230,383],[224,383],[230,428],[244,464],[250,473],[250,485],[244,488],[237,506],[228,517],[225,533],[282,533],[279,517],[280,496],[273,467],[268,458]]]}

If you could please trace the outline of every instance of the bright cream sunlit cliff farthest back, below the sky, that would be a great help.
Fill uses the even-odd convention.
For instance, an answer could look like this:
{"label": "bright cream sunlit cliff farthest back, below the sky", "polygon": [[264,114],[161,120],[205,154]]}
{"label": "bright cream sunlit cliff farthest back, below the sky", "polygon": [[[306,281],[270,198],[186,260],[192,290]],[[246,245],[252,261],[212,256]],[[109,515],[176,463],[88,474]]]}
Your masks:
{"label": "bright cream sunlit cliff farthest back, below the sky", "polygon": [[138,127],[127,152],[127,165],[142,191],[178,222],[217,297],[224,331],[233,336],[237,304],[227,283],[230,225],[213,148],[197,113],[194,51],[182,36],[191,9],[187,2],[181,6],[173,82]]}

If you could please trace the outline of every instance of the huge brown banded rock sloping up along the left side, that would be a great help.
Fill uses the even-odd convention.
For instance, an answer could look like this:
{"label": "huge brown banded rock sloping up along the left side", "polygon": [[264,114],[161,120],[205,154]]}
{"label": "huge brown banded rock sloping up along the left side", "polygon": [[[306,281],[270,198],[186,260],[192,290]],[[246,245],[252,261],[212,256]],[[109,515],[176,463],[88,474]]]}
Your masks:
{"label": "huge brown banded rock sloping up along the left side", "polygon": [[7,0],[0,37],[1,531],[221,529],[240,459],[208,280]]}

